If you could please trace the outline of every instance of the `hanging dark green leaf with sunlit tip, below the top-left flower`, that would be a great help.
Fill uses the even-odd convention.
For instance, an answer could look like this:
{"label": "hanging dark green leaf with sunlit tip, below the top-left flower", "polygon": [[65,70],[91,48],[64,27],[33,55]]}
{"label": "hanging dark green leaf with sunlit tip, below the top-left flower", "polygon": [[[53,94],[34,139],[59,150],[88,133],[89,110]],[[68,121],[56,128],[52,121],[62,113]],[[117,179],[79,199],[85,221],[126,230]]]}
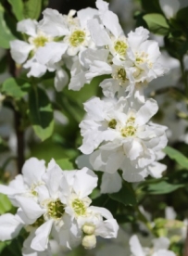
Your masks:
{"label": "hanging dark green leaf with sunlit tip, below the top-left flower", "polygon": [[52,105],[41,88],[32,88],[29,94],[29,116],[35,134],[43,141],[54,131]]}

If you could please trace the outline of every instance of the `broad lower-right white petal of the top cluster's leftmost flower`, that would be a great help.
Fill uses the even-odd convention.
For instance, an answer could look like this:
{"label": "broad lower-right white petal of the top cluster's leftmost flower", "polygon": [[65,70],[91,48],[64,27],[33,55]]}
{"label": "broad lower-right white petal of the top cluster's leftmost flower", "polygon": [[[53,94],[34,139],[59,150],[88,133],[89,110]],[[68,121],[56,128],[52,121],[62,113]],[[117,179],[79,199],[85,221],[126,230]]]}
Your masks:
{"label": "broad lower-right white petal of the top cluster's leftmost flower", "polygon": [[67,44],[49,42],[44,47],[39,47],[36,52],[36,59],[43,65],[54,65],[60,61],[68,48]]}

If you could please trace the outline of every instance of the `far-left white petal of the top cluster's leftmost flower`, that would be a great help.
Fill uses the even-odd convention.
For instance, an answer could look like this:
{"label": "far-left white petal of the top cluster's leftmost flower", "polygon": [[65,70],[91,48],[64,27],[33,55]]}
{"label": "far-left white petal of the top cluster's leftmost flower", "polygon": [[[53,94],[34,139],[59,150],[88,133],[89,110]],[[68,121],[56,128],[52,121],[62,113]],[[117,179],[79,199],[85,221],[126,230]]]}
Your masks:
{"label": "far-left white petal of the top cluster's leftmost flower", "polygon": [[33,46],[26,42],[20,40],[10,41],[11,56],[19,64],[26,61],[32,49]]}

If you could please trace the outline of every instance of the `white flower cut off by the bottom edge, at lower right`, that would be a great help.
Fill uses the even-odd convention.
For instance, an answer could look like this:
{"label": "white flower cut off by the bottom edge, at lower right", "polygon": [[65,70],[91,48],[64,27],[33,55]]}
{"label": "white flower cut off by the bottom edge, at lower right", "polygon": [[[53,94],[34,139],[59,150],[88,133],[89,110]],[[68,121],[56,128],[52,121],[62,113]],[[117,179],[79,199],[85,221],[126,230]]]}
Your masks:
{"label": "white flower cut off by the bottom edge, at lower right", "polygon": [[132,256],[175,256],[175,253],[169,249],[169,239],[167,237],[159,237],[153,239],[153,248],[143,248],[136,235],[130,239]]}

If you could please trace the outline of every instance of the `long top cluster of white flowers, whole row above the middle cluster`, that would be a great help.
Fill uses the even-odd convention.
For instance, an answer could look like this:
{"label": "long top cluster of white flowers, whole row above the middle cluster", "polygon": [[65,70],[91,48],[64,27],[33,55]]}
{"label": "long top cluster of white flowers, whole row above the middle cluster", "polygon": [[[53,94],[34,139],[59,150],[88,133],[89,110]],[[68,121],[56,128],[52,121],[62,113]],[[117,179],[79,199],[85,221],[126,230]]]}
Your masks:
{"label": "long top cluster of white flowers, whole row above the middle cluster", "polygon": [[157,42],[148,40],[149,32],[143,27],[126,36],[106,2],[97,0],[96,7],[81,9],[76,17],[74,10],[61,15],[47,8],[39,22],[19,21],[18,31],[26,42],[11,42],[12,58],[30,69],[28,76],[56,70],[57,91],[68,83],[68,74],[62,69],[66,65],[71,73],[69,89],[80,90],[95,76],[108,74],[110,78],[100,84],[105,96],[118,93],[142,98],[144,84],[166,72],[158,61]]}

